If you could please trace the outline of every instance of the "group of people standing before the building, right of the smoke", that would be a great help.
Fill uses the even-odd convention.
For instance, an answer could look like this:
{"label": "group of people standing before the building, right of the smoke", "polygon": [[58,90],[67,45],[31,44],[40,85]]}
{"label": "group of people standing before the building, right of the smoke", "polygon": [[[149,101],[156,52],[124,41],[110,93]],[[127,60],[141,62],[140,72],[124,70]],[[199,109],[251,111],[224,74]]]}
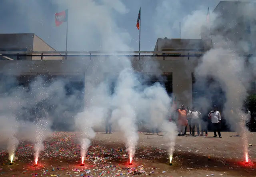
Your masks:
{"label": "group of people standing before the building, right of the smoke", "polygon": [[[192,136],[195,136],[195,128],[197,129],[198,136],[203,136],[205,131],[205,136],[208,136],[207,131],[207,123],[201,122],[200,119],[200,111],[196,109],[196,107],[193,107],[192,110],[190,110],[190,107],[186,107],[184,105],[181,105],[180,108],[177,110],[178,112],[178,129],[179,133],[178,136],[186,135],[186,129],[187,126],[189,126],[189,131]],[[220,112],[217,111],[216,105],[214,105],[213,110],[209,112],[208,114],[209,119],[211,119],[213,127],[214,127],[214,137],[218,136],[221,137],[220,128],[221,128],[221,116]],[[200,124],[201,125],[201,134],[200,134]]]}

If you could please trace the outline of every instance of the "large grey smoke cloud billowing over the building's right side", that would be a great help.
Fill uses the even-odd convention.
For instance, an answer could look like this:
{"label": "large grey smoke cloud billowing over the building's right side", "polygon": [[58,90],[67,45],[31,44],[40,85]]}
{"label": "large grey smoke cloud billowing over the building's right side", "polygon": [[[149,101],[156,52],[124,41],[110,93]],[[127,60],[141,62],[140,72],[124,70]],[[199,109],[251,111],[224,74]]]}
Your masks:
{"label": "large grey smoke cloud billowing over the building's right side", "polygon": [[[172,28],[175,32],[178,32],[177,22],[180,21],[182,38],[202,38],[204,48],[209,49],[208,52],[200,60],[190,58],[190,60],[197,63],[197,67],[194,69],[196,78],[194,88],[197,88],[197,91],[203,95],[195,98],[194,102],[199,105],[203,114],[207,114],[212,109],[213,104],[221,109],[223,103],[223,110],[220,110],[222,117],[226,120],[230,129],[237,130],[236,125],[241,116],[238,116],[238,114],[232,115],[230,111],[244,107],[244,99],[248,95],[248,90],[250,90],[250,83],[255,78],[254,67],[248,64],[248,62],[253,64],[254,58],[248,59],[248,56],[243,56],[252,52],[250,48],[254,46],[250,41],[255,38],[253,33],[255,25],[252,23],[255,20],[255,12],[252,10],[255,3],[230,3],[227,6],[230,8],[230,13],[234,12],[233,14],[235,14],[232,17],[225,15],[222,18],[221,13],[212,12],[218,4],[216,2],[210,8],[210,21],[207,21],[206,18],[209,6],[209,4],[206,4],[207,6],[198,6],[190,14],[183,15],[183,18],[179,18],[173,24],[166,23],[165,25],[168,26],[166,26],[166,29]],[[171,2],[161,2],[158,8],[163,10],[157,12],[157,15],[164,14],[161,16],[165,17],[169,12],[160,7],[170,5]],[[176,3],[174,6],[179,8],[180,3]],[[161,20],[168,21],[168,17],[161,18]],[[248,29],[248,25],[250,29]],[[158,34],[157,31],[156,34]],[[174,35],[170,32],[168,34],[169,36]],[[166,34],[167,37],[168,34]],[[201,48],[202,44],[194,47]],[[188,72],[188,74],[191,73]],[[213,82],[210,83],[209,78]]]}

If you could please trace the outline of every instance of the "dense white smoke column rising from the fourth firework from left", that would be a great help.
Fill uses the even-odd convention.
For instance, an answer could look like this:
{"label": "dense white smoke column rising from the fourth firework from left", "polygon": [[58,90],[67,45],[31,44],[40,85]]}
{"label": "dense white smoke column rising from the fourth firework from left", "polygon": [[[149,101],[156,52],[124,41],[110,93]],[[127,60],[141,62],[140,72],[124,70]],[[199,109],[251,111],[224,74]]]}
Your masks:
{"label": "dense white smoke column rising from the fourth firework from left", "polygon": [[124,133],[130,163],[132,162],[138,143],[135,104],[140,98],[140,95],[134,90],[137,84],[133,69],[122,71],[119,75],[116,92],[112,99],[114,110],[112,111],[111,119],[118,121],[118,126]]}

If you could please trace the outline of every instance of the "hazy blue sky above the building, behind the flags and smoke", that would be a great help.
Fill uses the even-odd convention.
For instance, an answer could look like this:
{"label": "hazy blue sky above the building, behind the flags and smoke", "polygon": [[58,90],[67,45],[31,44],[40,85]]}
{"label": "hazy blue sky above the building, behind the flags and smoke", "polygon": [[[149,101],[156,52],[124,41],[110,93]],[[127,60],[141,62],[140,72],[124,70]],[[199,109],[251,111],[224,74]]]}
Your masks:
{"label": "hazy blue sky above the building, behind the flags and smoke", "polygon": [[[141,51],[154,50],[157,38],[180,38],[179,22],[182,28],[193,21],[192,14],[200,12],[206,19],[207,9],[214,10],[218,0],[95,0],[105,1],[111,5],[112,20],[120,36],[126,42],[127,50],[139,49],[139,30],[136,20],[141,7]],[[65,51],[66,24],[55,26],[55,13],[69,9],[68,16],[68,51],[99,50],[97,41],[102,40],[97,26],[91,26],[90,20],[97,18],[101,12],[91,12],[86,0],[73,0],[73,4],[62,3],[63,0],[1,0],[0,1],[0,33],[35,33],[55,50]],[[122,3],[119,3],[122,2]],[[81,4],[79,4],[81,3]],[[109,7],[110,7],[109,5]],[[80,16],[79,11],[88,11]],[[190,20],[186,20],[190,19]],[[81,25],[81,24],[84,25]],[[88,25],[86,25],[86,23]],[[196,25],[196,24],[193,24]],[[86,29],[87,28],[87,29]],[[90,30],[89,30],[90,29]],[[199,38],[199,34],[188,35],[183,32],[182,38]],[[78,38],[78,36],[80,36]],[[86,45],[85,45],[86,43]]]}

